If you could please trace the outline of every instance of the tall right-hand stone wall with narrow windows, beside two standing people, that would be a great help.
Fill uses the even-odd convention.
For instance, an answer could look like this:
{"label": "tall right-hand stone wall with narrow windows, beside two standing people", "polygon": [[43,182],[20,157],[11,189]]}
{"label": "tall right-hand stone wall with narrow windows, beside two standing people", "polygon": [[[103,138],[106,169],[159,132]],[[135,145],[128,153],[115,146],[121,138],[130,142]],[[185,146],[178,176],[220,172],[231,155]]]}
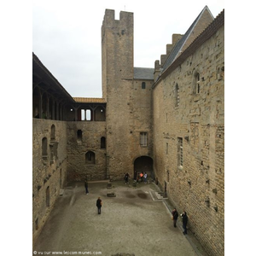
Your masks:
{"label": "tall right-hand stone wall with narrow windows, beside two standing people", "polygon": [[[195,73],[201,77],[199,94],[193,89]],[[188,212],[189,230],[207,252],[224,255],[224,12],[163,73],[153,102],[154,172],[160,186],[166,182],[172,204]],[[177,137],[183,138],[182,168]]]}

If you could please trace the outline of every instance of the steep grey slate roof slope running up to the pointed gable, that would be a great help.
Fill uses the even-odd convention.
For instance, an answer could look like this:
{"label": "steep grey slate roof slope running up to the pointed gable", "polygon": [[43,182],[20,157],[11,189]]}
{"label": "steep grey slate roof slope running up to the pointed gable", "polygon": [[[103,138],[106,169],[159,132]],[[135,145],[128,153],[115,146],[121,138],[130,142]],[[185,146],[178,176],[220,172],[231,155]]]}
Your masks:
{"label": "steep grey slate roof slope running up to the pointed gable", "polygon": [[[208,9],[207,6],[205,6],[204,9],[202,9],[201,13],[197,16],[197,18],[194,20],[194,22],[191,24],[191,26],[189,26],[189,29],[187,30],[187,32],[185,32],[185,34],[183,35],[183,37],[177,42],[177,44],[174,46],[174,48],[172,49],[170,55],[167,57],[166,62],[163,66],[163,72],[165,72],[166,68],[172,65],[172,62],[175,61],[175,59],[177,58],[177,56],[179,55],[179,53],[182,52],[183,50],[183,45],[186,44],[187,40],[189,39],[190,34],[193,32],[193,30],[195,29],[196,24],[198,23],[198,21],[201,19],[201,16],[203,15],[203,13],[205,11],[208,11],[211,14],[210,10]],[[212,16],[212,20],[213,16]]]}

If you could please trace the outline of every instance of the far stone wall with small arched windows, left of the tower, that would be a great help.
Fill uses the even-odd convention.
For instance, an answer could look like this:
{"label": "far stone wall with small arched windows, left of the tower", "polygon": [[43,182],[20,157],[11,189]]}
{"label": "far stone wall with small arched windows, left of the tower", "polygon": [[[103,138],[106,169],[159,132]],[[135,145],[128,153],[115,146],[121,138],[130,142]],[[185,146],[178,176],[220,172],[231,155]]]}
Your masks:
{"label": "far stone wall with small arched windows, left of the tower", "polygon": [[106,145],[106,122],[67,122],[67,181],[106,179]]}

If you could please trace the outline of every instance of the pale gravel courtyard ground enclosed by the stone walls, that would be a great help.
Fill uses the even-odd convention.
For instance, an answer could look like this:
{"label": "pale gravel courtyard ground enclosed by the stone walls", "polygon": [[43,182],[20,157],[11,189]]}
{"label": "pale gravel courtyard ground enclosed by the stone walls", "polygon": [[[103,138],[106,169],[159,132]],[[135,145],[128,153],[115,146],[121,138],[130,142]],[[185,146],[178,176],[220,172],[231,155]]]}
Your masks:
{"label": "pale gravel courtyard ground enclosed by the stone walls", "polygon": [[[154,183],[69,183],[44,225],[33,255],[197,256],[188,237],[174,228],[170,208],[155,197]],[[113,192],[116,197],[108,197]],[[102,198],[102,214],[96,200]],[[127,253],[127,254],[125,254]]]}

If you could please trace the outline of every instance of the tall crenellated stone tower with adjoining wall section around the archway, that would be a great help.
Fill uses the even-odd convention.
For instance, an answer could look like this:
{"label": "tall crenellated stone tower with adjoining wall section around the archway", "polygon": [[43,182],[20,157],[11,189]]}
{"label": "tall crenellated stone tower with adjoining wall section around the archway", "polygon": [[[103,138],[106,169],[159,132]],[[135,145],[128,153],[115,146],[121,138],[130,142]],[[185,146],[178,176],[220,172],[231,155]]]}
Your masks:
{"label": "tall crenellated stone tower with adjoining wall section around the archway", "polygon": [[[102,22],[102,95],[107,102],[107,173],[113,179],[125,172],[133,177],[136,166],[152,169],[151,86],[146,84],[153,83],[153,76],[149,82],[145,70],[133,67],[133,13],[121,11],[114,20],[114,10],[107,9]],[[143,147],[142,136],[147,140]]]}

